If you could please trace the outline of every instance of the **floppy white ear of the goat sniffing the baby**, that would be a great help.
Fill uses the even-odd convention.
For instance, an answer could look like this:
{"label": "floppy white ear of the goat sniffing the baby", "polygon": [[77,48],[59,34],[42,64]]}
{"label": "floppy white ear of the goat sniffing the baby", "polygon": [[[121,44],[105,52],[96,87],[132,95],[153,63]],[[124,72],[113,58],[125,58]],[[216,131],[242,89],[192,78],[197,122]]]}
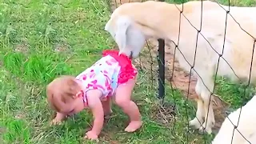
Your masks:
{"label": "floppy white ear of the goat sniffing the baby", "polygon": [[123,50],[126,47],[126,31],[129,28],[131,21],[130,18],[119,17],[116,24],[117,31],[114,38],[118,44],[119,50]]}

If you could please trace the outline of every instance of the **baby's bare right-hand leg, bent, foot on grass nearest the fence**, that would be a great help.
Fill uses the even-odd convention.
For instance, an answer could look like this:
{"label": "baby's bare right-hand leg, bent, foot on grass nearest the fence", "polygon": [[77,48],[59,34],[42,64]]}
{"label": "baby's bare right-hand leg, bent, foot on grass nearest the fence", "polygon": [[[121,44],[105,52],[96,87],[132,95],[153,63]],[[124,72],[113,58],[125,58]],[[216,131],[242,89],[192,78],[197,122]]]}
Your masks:
{"label": "baby's bare right-hand leg, bent, foot on grass nearest the fence", "polygon": [[141,114],[139,113],[138,106],[130,100],[134,85],[135,79],[130,79],[125,84],[118,86],[114,98],[116,104],[130,117],[130,124],[126,127],[126,132],[134,132],[142,126]]}

